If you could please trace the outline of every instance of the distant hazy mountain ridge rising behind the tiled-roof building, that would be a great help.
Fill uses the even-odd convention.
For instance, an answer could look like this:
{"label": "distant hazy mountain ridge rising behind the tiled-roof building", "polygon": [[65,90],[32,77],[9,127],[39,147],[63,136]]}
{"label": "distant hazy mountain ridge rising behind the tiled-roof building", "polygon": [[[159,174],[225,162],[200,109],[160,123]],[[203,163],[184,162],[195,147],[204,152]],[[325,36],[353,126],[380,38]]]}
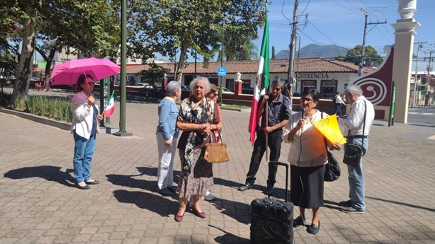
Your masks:
{"label": "distant hazy mountain ridge rising behind the tiled-roof building", "polygon": [[[310,44],[300,49],[299,57],[324,57],[334,58],[341,54],[346,55],[349,49],[346,47],[340,47],[337,45],[317,45]],[[276,59],[288,59],[289,51],[281,50],[276,55]],[[298,51],[296,51],[295,57],[298,57]]]}

